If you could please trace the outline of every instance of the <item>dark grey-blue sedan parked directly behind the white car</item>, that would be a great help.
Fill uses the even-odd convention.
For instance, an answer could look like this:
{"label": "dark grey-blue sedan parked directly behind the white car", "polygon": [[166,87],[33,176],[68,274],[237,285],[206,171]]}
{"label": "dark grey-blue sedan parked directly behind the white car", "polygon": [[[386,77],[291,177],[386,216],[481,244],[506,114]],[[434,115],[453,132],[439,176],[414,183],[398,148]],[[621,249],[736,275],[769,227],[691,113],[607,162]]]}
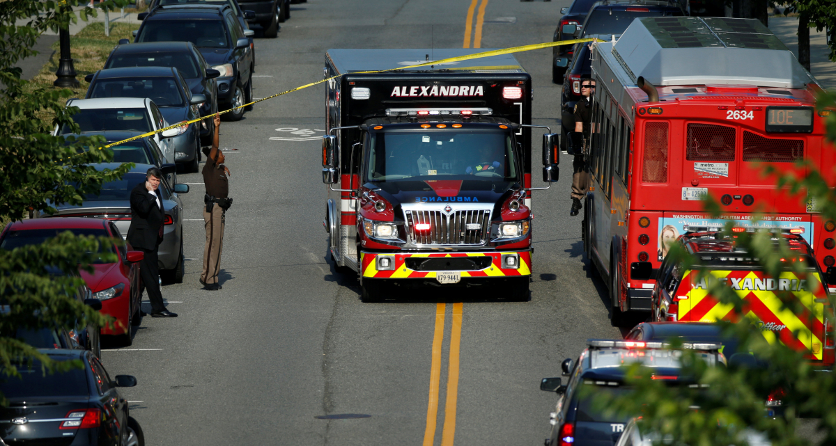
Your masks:
{"label": "dark grey-blue sedan parked directly behind the white car", "polygon": [[[200,117],[203,94],[191,94],[180,70],[171,67],[131,67],[100,69],[89,75],[84,99],[150,98],[166,122],[186,122]],[[177,127],[170,136],[174,160],[187,172],[196,172],[201,153],[200,129],[195,124]]]}

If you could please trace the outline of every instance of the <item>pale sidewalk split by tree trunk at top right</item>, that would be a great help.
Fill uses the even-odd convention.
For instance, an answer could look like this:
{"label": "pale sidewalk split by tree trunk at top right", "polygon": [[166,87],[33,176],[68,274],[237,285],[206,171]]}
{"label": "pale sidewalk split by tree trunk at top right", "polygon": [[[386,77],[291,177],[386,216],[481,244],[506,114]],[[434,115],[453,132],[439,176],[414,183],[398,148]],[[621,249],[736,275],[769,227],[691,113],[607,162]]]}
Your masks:
{"label": "pale sidewalk split by tree trunk at top right", "polygon": [[[798,58],[798,18],[772,16],[769,18],[769,29]],[[828,60],[828,54],[830,50],[824,31],[819,33],[816,28],[810,28],[810,72],[824,89],[836,91],[836,63]]]}

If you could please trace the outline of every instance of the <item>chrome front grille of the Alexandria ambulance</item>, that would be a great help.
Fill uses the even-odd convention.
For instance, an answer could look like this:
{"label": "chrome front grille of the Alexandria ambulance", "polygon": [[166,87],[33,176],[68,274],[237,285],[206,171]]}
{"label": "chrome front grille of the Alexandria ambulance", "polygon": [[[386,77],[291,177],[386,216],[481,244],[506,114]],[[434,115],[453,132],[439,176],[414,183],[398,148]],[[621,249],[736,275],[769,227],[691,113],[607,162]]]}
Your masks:
{"label": "chrome front grille of the Alexandria ambulance", "polygon": [[[491,210],[406,210],[406,227],[415,245],[484,245],[491,232]],[[429,229],[416,229],[416,225]],[[470,228],[468,228],[470,226]]]}

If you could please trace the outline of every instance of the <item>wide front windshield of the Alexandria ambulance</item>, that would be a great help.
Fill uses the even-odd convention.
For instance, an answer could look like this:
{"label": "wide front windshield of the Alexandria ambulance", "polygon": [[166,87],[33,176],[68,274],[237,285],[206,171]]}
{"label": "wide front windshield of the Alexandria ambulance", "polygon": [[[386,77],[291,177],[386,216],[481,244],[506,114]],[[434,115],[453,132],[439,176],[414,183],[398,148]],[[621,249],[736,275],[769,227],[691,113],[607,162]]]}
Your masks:
{"label": "wide front windshield of the Alexandria ambulance", "polygon": [[368,181],[517,180],[511,134],[495,130],[377,132],[370,138],[368,166]]}

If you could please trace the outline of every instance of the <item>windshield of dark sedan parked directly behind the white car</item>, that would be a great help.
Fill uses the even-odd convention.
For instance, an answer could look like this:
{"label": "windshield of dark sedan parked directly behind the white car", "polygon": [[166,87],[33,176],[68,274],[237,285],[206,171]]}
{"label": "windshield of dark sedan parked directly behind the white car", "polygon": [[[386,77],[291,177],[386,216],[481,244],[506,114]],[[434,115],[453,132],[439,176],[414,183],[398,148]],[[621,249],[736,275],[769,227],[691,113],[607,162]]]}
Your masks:
{"label": "windshield of dark sedan parked directly behind the white car", "polygon": [[100,79],[90,86],[88,99],[150,98],[158,107],[182,107],[180,86],[174,78]]}

